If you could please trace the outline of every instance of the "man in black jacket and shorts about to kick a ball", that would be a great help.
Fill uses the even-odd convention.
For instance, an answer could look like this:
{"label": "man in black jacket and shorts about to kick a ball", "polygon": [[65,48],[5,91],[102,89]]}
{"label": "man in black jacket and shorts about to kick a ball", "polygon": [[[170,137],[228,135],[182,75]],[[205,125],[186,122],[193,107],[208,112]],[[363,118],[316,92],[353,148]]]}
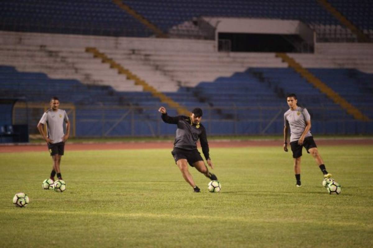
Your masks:
{"label": "man in black jacket and shorts about to kick a ball", "polygon": [[164,107],[160,107],[158,111],[162,113],[162,120],[164,122],[176,124],[178,126],[171,154],[185,181],[192,186],[194,192],[200,192],[200,188],[195,185],[192,175],[189,173],[188,163],[191,167],[196,168],[200,173],[210,178],[210,180],[217,180],[216,175],[209,172],[200,152],[197,150],[197,141],[200,139],[203,155],[206,158],[207,164],[213,169],[214,165],[209,155],[209,143],[207,142],[206,129],[200,123],[202,109],[193,109],[189,117],[168,116]]}

